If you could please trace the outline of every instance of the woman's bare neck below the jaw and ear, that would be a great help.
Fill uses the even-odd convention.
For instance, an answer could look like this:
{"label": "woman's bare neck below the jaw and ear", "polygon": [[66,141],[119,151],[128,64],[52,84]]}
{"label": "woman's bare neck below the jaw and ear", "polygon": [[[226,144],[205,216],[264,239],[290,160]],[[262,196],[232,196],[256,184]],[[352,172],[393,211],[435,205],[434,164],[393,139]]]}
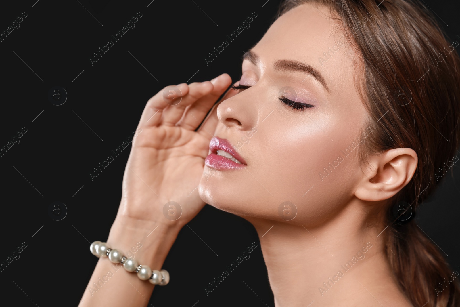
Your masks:
{"label": "woman's bare neck below the jaw and ear", "polygon": [[350,205],[311,227],[247,218],[259,234],[276,307],[306,307],[312,301],[321,304],[316,306],[355,306],[363,297],[373,301],[366,305],[380,306],[383,293],[402,295],[386,260],[385,231],[379,235],[385,226],[367,226],[363,211]]}

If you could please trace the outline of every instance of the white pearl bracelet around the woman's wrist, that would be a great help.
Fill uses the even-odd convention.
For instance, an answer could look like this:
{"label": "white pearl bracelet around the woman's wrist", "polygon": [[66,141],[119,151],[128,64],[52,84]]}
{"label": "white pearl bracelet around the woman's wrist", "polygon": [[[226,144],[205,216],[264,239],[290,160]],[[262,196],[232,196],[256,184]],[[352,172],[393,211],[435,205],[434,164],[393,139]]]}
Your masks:
{"label": "white pearl bracelet around the woman's wrist", "polygon": [[169,273],[166,270],[152,270],[149,266],[138,264],[134,259],[129,259],[121,254],[118,249],[111,249],[109,244],[101,241],[94,241],[89,247],[91,254],[96,257],[109,257],[113,263],[120,263],[128,272],[136,272],[138,278],[149,280],[150,284],[164,286],[169,283]]}

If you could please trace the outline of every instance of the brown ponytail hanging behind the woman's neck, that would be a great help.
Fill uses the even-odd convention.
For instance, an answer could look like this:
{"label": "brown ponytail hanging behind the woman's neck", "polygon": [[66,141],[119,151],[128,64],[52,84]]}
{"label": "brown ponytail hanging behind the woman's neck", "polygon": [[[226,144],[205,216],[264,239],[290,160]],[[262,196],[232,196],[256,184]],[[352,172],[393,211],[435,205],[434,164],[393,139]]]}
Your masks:
{"label": "brown ponytail hanging behind the woman's neck", "polygon": [[449,269],[414,220],[388,227],[385,235],[390,265],[414,306],[460,306],[458,271]]}

